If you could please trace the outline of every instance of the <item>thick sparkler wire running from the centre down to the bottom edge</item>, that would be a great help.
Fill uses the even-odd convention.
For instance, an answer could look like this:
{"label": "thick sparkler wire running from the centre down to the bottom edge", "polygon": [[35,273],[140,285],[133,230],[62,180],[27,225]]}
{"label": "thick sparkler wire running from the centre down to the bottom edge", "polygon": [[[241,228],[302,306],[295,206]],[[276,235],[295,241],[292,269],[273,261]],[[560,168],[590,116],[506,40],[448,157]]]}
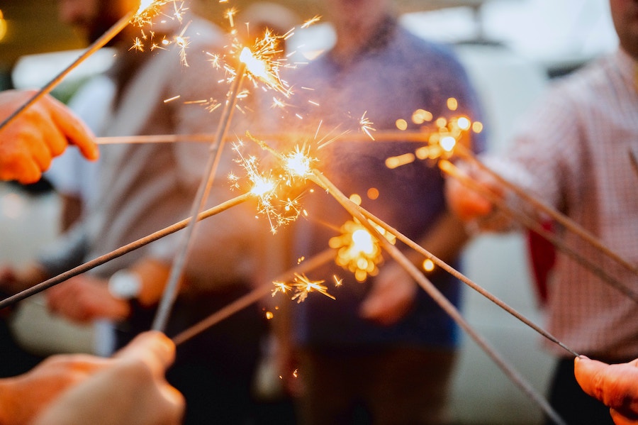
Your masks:
{"label": "thick sparkler wire running from the centre down to the bottom edge", "polygon": [[313,170],[312,175],[308,177],[310,180],[318,184],[318,186],[322,187],[332,197],[334,197],[337,202],[339,202],[348,212],[352,214],[352,216],[356,217],[359,221],[361,221],[362,225],[367,228],[367,230],[375,236],[375,238],[383,245],[384,249],[391,255],[391,257],[396,260],[396,262],[404,268],[406,272],[413,277],[413,279],[418,282],[420,287],[427,292],[427,294],[432,297],[432,299],[439,304],[439,306],[446,311],[446,313],[454,319],[454,321],[459,324],[459,326],[466,331],[466,333],[474,339],[474,342],[478,344],[478,346],[483,349],[483,352],[486,353],[498,367],[505,372],[505,375],[510,377],[510,380],[517,385],[525,394],[527,394],[537,405],[549,416],[552,418],[556,424],[565,424],[565,421],[561,419],[559,414],[557,414],[551,405],[545,400],[541,395],[539,395],[536,390],[522,377],[511,365],[509,365],[505,359],[503,359],[498,352],[492,348],[489,343],[480,336],[474,328],[464,319],[459,310],[454,307],[454,304],[449,302],[449,300],[435,287],[432,285],[432,282],[425,277],[425,275],[420,272],[420,270],[413,265],[413,263],[408,260],[408,258],[401,253],[396,246],[392,245],[384,236],[379,234],[379,231],[374,228],[374,226],[366,220],[365,216],[357,211],[356,208],[353,207],[354,203],[350,201],[342,192],[340,192],[335,185],[328,180],[327,177],[322,175],[318,170]]}

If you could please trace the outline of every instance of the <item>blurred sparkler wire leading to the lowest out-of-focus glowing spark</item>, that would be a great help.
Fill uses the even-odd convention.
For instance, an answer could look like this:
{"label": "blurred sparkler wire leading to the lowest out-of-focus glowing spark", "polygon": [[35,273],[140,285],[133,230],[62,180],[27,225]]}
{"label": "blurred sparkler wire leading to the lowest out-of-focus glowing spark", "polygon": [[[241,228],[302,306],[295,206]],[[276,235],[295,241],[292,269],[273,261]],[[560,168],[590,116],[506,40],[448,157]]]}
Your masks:
{"label": "blurred sparkler wire leading to the lowest out-of-focus glowing spark", "polygon": [[[305,260],[303,261],[303,263],[297,265],[296,267],[293,267],[290,270],[281,273],[281,275],[276,277],[274,280],[286,280],[290,276],[293,276],[295,273],[306,273],[309,270],[313,270],[314,268],[328,263],[328,261],[334,259],[335,250],[333,250],[332,248],[324,250],[323,252],[313,256],[313,258],[310,258],[310,260]],[[264,297],[264,295],[271,290],[272,285],[259,285],[259,287],[256,287],[255,289],[252,289],[251,292],[248,292],[244,296],[235,299],[235,301],[227,304],[225,307],[206,317],[206,319],[199,321],[185,331],[181,331],[176,336],[171,338],[172,341],[175,343],[176,346],[179,346],[179,344],[188,341],[189,339],[193,338],[199,333],[202,333],[203,331],[206,331],[206,329],[237,313],[237,311],[240,311],[241,309],[248,307],[250,304],[259,301],[259,299]]]}

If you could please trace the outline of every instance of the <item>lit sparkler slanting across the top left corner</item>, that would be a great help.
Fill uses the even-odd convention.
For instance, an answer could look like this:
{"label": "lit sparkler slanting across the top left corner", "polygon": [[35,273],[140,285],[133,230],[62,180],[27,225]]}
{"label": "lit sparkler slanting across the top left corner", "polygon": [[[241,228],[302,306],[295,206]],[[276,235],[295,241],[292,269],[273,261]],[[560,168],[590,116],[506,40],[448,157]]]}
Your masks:
{"label": "lit sparkler slanting across the top left corner", "polygon": [[120,33],[124,28],[126,28],[126,26],[128,26],[129,23],[147,22],[147,20],[149,19],[149,16],[151,16],[152,13],[154,13],[154,11],[157,11],[159,6],[166,4],[168,1],[169,0],[155,0],[155,1],[145,0],[145,1],[142,1],[142,4],[140,4],[137,11],[135,12],[130,11],[126,13],[124,16],[122,16],[119,19],[119,21],[114,23],[113,26],[111,26],[111,28],[109,28],[106,31],[106,33],[103,33],[103,35],[101,35],[100,38],[95,40],[94,43],[92,43],[89,46],[89,48],[86,48],[86,50],[84,50],[84,53],[82,53],[82,55],[79,55],[79,57],[77,57],[77,59],[74,60],[74,62],[72,62],[71,65],[67,66],[64,70],[62,70],[62,72],[57,74],[53,79],[50,80],[50,82],[48,82],[47,84],[45,84],[44,87],[38,90],[38,92],[35,92],[35,94],[31,96],[31,98],[28,99],[26,103],[20,106],[20,108],[16,109],[16,111],[13,111],[13,114],[6,117],[4,121],[0,123],[0,130],[8,126],[9,123],[13,122],[14,119],[18,118],[18,116],[20,116],[30,106],[35,104],[35,102],[42,99],[42,97],[45,96],[45,94],[50,93],[51,90],[57,86],[57,84],[60,84],[60,82],[62,82],[62,79],[65,79],[65,77],[69,74],[69,72],[71,72],[79,64],[84,62],[84,60],[86,60],[87,57],[93,55],[94,53],[96,53],[96,51],[103,48],[106,45],[106,43],[113,40],[113,37],[118,35],[118,33]]}

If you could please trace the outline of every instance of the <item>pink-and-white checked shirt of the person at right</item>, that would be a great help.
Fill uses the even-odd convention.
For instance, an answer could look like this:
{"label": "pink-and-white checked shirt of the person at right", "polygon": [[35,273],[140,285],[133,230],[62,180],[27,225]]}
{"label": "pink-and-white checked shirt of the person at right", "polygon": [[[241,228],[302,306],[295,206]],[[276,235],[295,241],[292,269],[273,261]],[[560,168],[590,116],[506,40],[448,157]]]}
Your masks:
{"label": "pink-and-white checked shirt of the person at right", "polygon": [[[530,189],[638,263],[638,92],[636,62],[618,50],[556,82],[525,116],[508,162],[529,174]],[[511,165],[511,164],[510,164]],[[569,248],[638,292],[638,277],[571,231]],[[638,357],[638,304],[559,253],[549,287],[547,330],[592,357]],[[557,355],[569,355],[545,341]]]}

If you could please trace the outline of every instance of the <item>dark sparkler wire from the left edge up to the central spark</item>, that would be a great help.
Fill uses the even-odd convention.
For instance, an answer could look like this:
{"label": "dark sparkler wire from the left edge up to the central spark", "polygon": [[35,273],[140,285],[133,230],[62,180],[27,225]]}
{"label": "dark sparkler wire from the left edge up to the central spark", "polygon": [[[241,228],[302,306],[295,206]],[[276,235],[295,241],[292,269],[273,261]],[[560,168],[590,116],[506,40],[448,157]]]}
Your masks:
{"label": "dark sparkler wire from the left edge up to the central spark", "polygon": [[[248,199],[252,199],[252,197],[254,197],[254,194],[250,192],[241,194],[238,197],[230,199],[226,202],[218,204],[217,206],[213,206],[213,208],[211,209],[207,209],[206,211],[201,212],[200,214],[198,214],[197,220],[198,221],[203,220],[208,217],[219,214],[220,212],[225,211],[235,205],[241,204],[242,202],[245,202]],[[12,295],[11,297],[6,297],[5,299],[0,301],[0,309],[4,309],[5,307],[9,307],[13,304],[16,304],[16,302],[22,301],[23,299],[26,299],[30,297],[31,295],[38,294],[38,292],[42,292],[45,289],[49,289],[50,287],[53,287],[59,283],[62,283],[65,280],[69,279],[70,277],[74,277],[84,272],[88,272],[94,267],[97,267],[104,263],[108,263],[108,261],[121,257],[122,255],[126,253],[130,253],[131,251],[134,251],[138,248],[142,248],[142,246],[148,245],[149,243],[153,241],[157,241],[158,239],[163,238],[164,236],[168,236],[171,233],[175,233],[185,228],[190,221],[191,221],[191,218],[178,221],[177,223],[172,224],[172,226],[168,226],[166,228],[163,228],[162,230],[156,231],[155,233],[151,233],[148,236],[140,238],[137,241],[133,241],[131,243],[123,245],[120,248],[117,248],[116,250],[111,251],[110,253],[106,253],[97,258],[94,258],[93,260],[89,260],[88,262],[82,265],[74,267],[71,270],[67,270],[66,272],[63,272],[60,275],[52,277],[49,280],[40,282],[38,283],[38,285],[33,285],[32,287],[25,289],[21,292],[18,292],[17,294]]]}

